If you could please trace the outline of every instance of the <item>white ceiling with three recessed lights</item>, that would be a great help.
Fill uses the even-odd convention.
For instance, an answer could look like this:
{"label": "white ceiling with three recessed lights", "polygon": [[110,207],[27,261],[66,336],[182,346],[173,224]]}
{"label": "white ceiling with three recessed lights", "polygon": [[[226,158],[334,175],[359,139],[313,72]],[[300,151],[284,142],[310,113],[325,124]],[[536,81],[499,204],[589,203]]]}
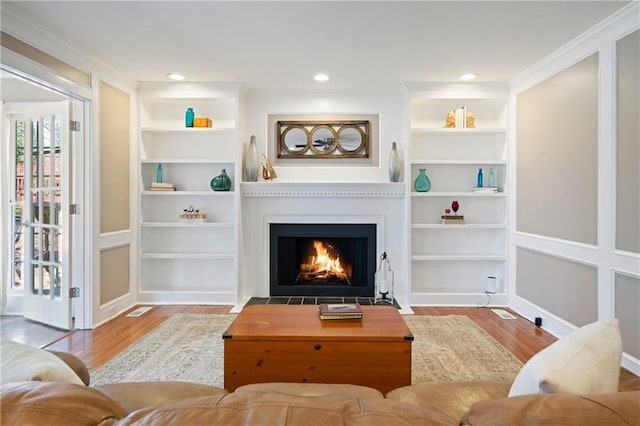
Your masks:
{"label": "white ceiling with three recessed lights", "polygon": [[[464,72],[508,81],[626,2],[3,4],[137,81],[167,81],[177,71],[190,81],[299,89],[450,82]],[[331,79],[316,83],[317,72]]]}

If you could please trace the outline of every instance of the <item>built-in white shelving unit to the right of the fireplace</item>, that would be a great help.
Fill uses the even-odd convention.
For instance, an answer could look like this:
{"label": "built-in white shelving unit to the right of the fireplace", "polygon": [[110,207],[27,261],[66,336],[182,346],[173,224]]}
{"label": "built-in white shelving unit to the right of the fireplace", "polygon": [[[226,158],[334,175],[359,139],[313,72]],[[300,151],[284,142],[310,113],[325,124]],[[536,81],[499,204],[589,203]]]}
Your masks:
{"label": "built-in white shelving unit to the right of the fireplace", "polygon": [[[411,300],[428,305],[485,303],[487,277],[498,278],[492,303],[506,303],[508,91],[495,85],[409,87],[409,175]],[[465,106],[475,128],[445,128],[447,113]],[[473,192],[478,169],[487,186],[493,169],[498,193]],[[426,169],[429,192],[413,181]],[[463,225],[441,224],[458,201]],[[450,213],[453,214],[453,213]]]}

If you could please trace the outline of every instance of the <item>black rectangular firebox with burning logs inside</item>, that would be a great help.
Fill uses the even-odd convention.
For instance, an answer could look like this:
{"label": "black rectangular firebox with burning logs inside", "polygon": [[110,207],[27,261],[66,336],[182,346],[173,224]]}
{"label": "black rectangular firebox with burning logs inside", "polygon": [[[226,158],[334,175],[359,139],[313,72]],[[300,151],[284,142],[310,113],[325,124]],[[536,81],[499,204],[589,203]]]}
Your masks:
{"label": "black rectangular firebox with burning logs inside", "polygon": [[272,223],[271,296],[372,297],[376,224]]}

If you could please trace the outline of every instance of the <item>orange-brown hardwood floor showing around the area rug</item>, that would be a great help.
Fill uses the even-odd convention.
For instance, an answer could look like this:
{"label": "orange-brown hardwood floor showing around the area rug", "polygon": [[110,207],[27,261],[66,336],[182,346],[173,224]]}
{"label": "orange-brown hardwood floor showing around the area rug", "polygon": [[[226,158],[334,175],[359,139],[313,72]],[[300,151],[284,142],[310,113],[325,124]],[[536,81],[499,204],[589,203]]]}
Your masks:
{"label": "orange-brown hardwood floor showing around the area rug", "polygon": [[[231,306],[163,305],[154,306],[140,317],[127,317],[133,310],[94,330],[75,331],[45,347],[76,355],[93,372],[174,313],[226,314]],[[556,340],[513,312],[516,319],[503,320],[486,308],[414,307],[413,310],[416,315],[466,315],[522,362]]]}

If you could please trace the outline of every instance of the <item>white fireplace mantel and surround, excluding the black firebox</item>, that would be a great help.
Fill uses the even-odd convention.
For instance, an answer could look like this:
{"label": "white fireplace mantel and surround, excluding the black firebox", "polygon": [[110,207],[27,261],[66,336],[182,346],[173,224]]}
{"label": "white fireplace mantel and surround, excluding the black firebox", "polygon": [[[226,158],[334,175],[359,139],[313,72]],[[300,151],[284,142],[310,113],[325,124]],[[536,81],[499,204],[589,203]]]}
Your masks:
{"label": "white fireplace mantel and surround, excluding the black firebox", "polygon": [[393,254],[396,298],[408,297],[406,182],[243,182],[240,300],[269,295],[271,223],[374,223],[376,255]]}

